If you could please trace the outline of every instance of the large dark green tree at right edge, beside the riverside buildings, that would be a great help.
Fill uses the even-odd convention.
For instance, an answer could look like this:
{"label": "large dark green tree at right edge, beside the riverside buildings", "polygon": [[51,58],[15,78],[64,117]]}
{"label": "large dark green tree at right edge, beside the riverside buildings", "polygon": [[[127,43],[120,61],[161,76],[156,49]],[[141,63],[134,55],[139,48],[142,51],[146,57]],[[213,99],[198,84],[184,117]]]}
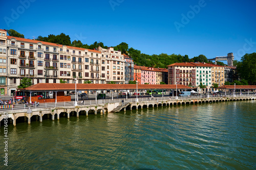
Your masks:
{"label": "large dark green tree at right edge, beside the riverside buildings", "polygon": [[256,85],[256,53],[245,54],[241,62],[238,62],[237,71],[248,84]]}

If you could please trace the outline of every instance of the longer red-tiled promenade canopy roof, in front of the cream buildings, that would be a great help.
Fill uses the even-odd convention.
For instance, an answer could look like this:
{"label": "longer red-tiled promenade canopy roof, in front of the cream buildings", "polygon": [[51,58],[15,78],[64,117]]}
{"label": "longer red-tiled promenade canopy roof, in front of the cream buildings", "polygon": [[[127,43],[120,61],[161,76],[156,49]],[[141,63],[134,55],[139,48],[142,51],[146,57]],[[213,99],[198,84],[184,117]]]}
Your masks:
{"label": "longer red-tiled promenade canopy roof, in front of the cream buildings", "polygon": [[[124,90],[136,89],[136,84],[76,84],[77,90]],[[176,89],[176,85],[153,85],[153,84],[138,84],[138,89]],[[190,89],[185,85],[178,85],[178,89]],[[27,91],[74,91],[75,84],[68,83],[38,83],[25,88]]]}

